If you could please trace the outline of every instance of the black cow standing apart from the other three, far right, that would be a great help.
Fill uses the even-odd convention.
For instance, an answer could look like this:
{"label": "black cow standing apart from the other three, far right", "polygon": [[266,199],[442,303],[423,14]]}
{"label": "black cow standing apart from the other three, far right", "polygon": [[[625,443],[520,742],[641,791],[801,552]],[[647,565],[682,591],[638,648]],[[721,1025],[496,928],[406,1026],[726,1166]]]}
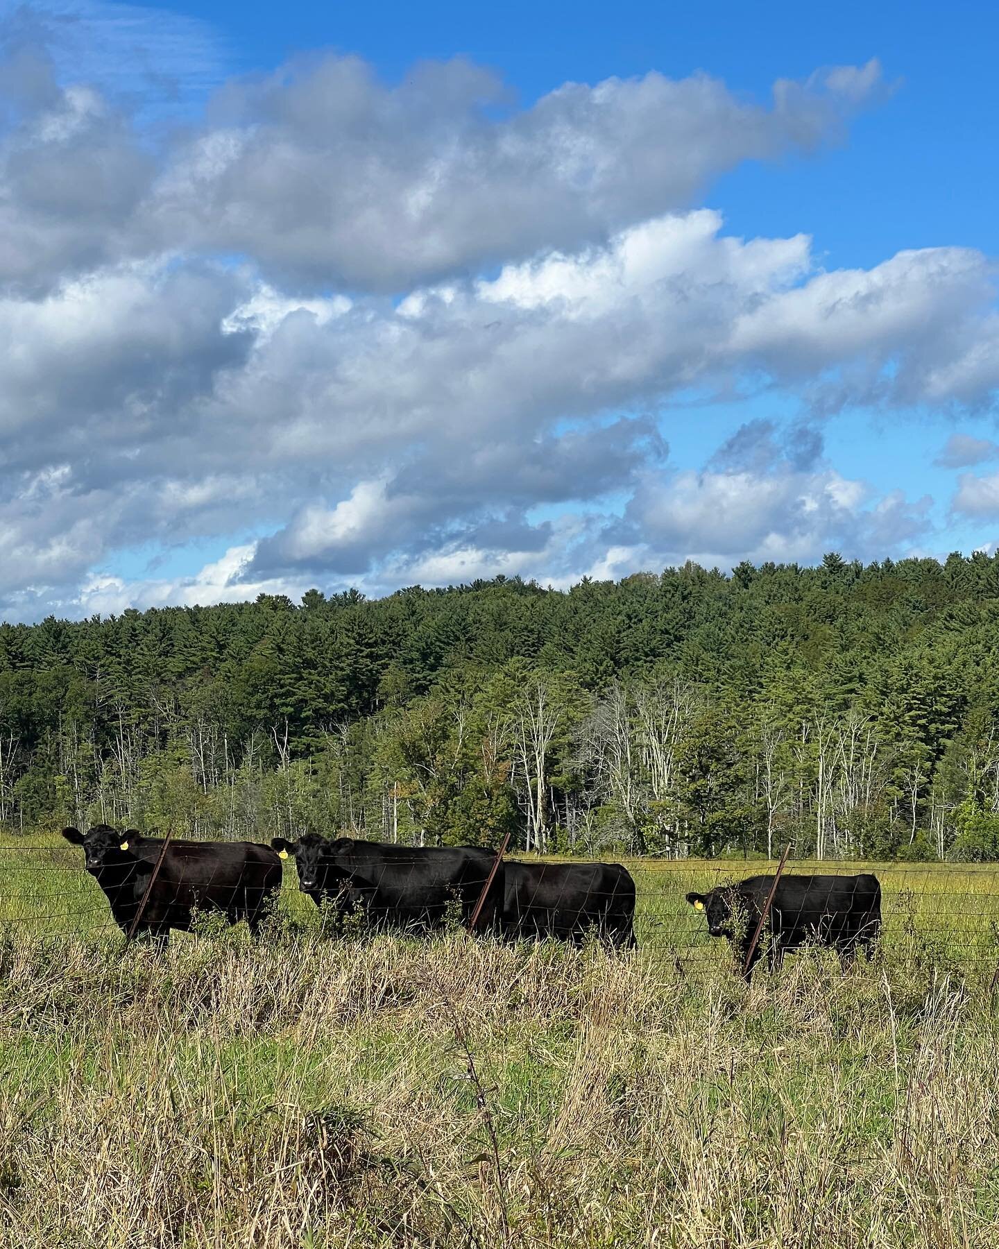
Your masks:
{"label": "black cow standing apart from the other three, far right", "polygon": [[[750,876],[738,884],[719,886],[711,893],[688,893],[687,901],[703,911],[712,937],[727,937],[737,952],[739,969],[759,917],[773,887],[772,876]],[[882,887],[875,876],[785,876],[770,904],[767,923],[746,968],[749,980],[753,965],[765,944],[773,970],[787,950],[815,942],[838,950],[845,965],[858,948],[870,957],[882,927]],[[769,939],[768,939],[769,938]]]}

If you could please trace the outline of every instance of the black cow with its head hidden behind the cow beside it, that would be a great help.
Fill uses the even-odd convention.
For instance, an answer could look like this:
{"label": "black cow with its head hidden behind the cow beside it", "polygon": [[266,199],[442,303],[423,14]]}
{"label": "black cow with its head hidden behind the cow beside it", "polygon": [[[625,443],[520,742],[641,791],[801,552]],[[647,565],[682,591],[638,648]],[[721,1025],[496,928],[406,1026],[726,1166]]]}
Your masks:
{"label": "black cow with its head hidden behind the cow beside it", "polygon": [[503,936],[579,945],[593,931],[608,945],[634,939],[634,881],[619,863],[503,864]]}

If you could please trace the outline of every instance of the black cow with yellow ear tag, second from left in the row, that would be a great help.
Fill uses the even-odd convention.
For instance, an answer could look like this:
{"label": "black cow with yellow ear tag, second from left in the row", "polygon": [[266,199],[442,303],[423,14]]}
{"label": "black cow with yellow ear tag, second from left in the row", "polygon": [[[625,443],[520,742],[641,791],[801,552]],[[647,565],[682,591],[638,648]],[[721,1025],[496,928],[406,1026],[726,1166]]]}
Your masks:
{"label": "black cow with yellow ear tag, second from left in the row", "polygon": [[[415,847],[328,841],[315,833],[297,842],[275,837],[278,854],[293,854],[298,888],[313,902],[332,899],[337,911],[356,907],[375,928],[430,931],[443,927],[448,907],[472,916],[488,879],[495,853],[476,846]],[[480,927],[492,927],[500,881],[490,891]]]}

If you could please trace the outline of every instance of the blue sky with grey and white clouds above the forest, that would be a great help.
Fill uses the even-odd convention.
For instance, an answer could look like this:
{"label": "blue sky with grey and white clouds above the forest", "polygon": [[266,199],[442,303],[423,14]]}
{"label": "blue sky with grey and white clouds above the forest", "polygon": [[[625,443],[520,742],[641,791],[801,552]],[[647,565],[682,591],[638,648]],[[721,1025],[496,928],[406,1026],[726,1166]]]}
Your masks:
{"label": "blue sky with grey and white clouds above the forest", "polygon": [[999,543],[999,10],[0,0],[0,618]]}

